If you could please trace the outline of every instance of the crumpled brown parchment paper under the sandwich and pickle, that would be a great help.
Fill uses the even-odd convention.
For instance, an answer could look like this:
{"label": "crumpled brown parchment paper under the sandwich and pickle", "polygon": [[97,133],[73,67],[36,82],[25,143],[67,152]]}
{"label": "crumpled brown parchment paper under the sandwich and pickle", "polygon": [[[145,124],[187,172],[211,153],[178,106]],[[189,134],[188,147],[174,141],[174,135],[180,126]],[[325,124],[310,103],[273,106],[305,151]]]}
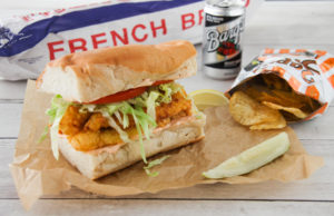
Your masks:
{"label": "crumpled brown parchment paper under the sandwich and pickle", "polygon": [[[16,145],[13,163],[10,165],[18,195],[26,208],[42,195],[59,194],[76,186],[82,190],[121,196],[140,193],[157,193],[164,189],[189,187],[196,184],[250,184],[264,180],[291,181],[307,178],[323,165],[323,159],[308,155],[289,128],[289,150],[273,163],[248,175],[219,180],[205,179],[200,174],[227,158],[281,132],[282,130],[249,131],[235,122],[227,107],[208,108],[206,137],[202,141],[168,151],[170,158],[157,166],[157,177],[145,174],[143,163],[117,171],[114,175],[90,180],[73,168],[63,157],[57,161],[50,149],[50,140],[38,144],[48,124],[45,110],[52,96],[36,90],[35,81],[28,81],[21,127]],[[312,122],[310,122],[312,124]],[[160,155],[154,158],[160,157]],[[153,159],[153,158],[151,158]]]}

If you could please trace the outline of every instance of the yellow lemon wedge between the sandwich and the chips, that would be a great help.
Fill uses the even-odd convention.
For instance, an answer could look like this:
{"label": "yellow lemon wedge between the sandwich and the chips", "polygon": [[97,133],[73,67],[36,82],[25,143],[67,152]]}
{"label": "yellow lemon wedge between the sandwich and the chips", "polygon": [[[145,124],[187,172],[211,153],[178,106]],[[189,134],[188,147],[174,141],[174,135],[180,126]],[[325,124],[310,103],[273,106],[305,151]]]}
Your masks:
{"label": "yellow lemon wedge between the sandwich and the chips", "polygon": [[196,107],[204,110],[207,107],[222,107],[228,105],[228,99],[224,92],[213,89],[200,89],[189,94]]}

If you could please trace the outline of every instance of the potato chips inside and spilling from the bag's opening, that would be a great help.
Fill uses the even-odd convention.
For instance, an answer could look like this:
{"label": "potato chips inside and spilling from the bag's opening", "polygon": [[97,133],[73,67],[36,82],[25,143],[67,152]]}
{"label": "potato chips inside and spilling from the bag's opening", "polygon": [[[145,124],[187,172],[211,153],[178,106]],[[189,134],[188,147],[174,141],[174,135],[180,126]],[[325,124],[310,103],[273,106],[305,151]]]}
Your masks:
{"label": "potato chips inside and spilling from the bag's opening", "polygon": [[[236,87],[234,91],[242,91],[258,104],[276,109],[279,111],[281,117],[284,118],[284,120],[279,118],[268,120],[265,117],[267,115],[266,112],[259,115],[258,111],[255,111],[263,110],[263,108],[254,104],[252,104],[252,106],[249,105],[249,107],[243,106],[243,108],[234,110],[236,121],[242,125],[254,126],[252,127],[253,129],[284,127],[286,121],[293,122],[305,119],[321,107],[318,101],[296,92],[288,86],[287,81],[274,73],[263,73],[248,79]],[[249,104],[249,100],[246,102]],[[253,110],[253,112],[249,110]]]}

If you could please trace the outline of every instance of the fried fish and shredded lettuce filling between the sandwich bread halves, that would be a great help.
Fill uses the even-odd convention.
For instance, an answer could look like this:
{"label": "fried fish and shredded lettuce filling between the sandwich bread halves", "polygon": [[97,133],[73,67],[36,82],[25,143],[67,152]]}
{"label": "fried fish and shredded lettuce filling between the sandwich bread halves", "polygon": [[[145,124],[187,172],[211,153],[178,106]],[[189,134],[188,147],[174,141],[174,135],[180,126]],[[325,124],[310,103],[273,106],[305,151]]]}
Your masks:
{"label": "fried fish and shredded lettuce filling between the sandwich bread halves", "polygon": [[[147,87],[136,97],[109,104],[106,100],[102,104],[68,102],[58,95],[47,114],[52,121],[51,136],[53,129],[65,135],[76,150],[90,151],[136,139],[143,146],[143,139],[149,139],[155,128],[191,116],[194,108],[184,88],[168,82]],[[144,147],[141,149],[146,161]]]}

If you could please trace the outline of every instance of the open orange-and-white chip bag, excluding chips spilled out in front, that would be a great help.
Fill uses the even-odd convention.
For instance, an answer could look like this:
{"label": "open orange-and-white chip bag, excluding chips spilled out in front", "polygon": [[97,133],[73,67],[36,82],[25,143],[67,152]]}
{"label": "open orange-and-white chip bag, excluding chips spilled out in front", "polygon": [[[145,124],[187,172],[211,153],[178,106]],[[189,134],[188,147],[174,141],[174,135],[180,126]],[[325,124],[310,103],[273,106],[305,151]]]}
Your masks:
{"label": "open orange-and-white chip bag, excluding chips spilled out in front", "polygon": [[[318,50],[294,49],[264,51],[253,60],[256,67],[252,61],[239,72],[227,94],[232,96],[243,91],[259,104],[274,104],[272,107],[279,110],[287,121],[312,119],[324,114],[333,98],[327,87],[334,81],[327,78],[334,75],[334,68],[328,76],[321,76],[330,71],[330,67],[320,62],[333,57],[321,51],[322,58],[318,58]],[[307,66],[310,62],[313,63],[312,68]]]}

